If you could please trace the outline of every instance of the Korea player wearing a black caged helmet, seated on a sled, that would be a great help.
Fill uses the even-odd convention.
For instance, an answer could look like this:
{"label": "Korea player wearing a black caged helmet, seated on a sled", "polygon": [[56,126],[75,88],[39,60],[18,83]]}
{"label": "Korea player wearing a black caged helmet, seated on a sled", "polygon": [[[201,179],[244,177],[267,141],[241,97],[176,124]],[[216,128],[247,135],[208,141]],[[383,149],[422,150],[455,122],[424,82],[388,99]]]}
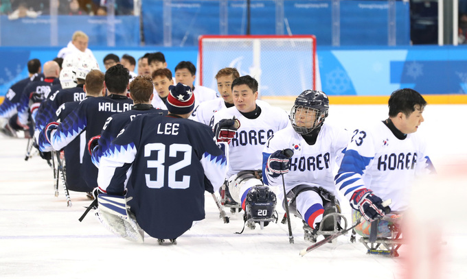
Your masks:
{"label": "Korea player wearing a black caged helmet, seated on a sled", "polygon": [[[319,234],[340,230],[334,227],[334,218],[339,224],[343,217],[335,198],[334,170],[351,134],[324,122],[328,109],[325,93],[305,90],[295,99],[292,125],[271,136],[263,151],[264,184],[285,187],[291,215],[303,220],[305,239],[313,242]],[[279,201],[286,208],[284,191],[279,193]]]}

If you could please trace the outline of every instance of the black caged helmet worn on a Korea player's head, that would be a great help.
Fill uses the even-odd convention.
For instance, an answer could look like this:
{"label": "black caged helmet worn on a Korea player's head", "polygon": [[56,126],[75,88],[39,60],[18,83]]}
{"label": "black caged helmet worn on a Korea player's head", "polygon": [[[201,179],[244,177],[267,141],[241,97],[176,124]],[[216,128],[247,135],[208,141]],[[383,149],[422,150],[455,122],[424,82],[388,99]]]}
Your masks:
{"label": "black caged helmet worn on a Korea player's head", "polygon": [[[323,125],[324,119],[328,117],[329,99],[328,96],[318,90],[305,90],[297,99],[291,110],[291,123],[293,130],[298,134],[309,134],[313,130]],[[298,125],[297,121],[307,114],[315,112],[315,121],[308,125]]]}

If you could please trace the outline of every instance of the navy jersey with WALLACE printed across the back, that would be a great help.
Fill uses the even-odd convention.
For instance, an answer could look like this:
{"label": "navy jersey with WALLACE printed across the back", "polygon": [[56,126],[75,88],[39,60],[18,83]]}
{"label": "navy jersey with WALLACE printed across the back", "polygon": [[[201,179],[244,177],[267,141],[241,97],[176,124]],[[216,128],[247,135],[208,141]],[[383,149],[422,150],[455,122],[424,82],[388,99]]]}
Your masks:
{"label": "navy jersey with WALLACE printed across the back", "polygon": [[[90,138],[100,134],[107,118],[116,112],[130,110],[132,106],[133,100],[126,96],[88,97],[81,101],[65,119],[62,119],[62,123],[51,133],[50,142],[43,132],[39,134],[39,149],[41,151],[60,150],[82,132],[86,133],[85,138],[88,142]],[[85,173],[84,180],[89,187],[87,192],[92,191],[98,186],[96,181],[98,169],[91,162],[88,152],[84,152],[81,170]]]}

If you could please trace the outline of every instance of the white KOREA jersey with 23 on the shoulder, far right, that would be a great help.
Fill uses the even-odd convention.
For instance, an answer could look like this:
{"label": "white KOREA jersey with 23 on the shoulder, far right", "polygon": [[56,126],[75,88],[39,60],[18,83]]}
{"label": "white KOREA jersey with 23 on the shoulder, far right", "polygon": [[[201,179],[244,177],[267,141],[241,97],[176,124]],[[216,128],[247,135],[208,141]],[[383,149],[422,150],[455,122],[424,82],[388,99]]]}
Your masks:
{"label": "white KOREA jersey with 23 on the shoulder, far right", "polygon": [[355,130],[336,175],[336,186],[350,199],[354,191],[367,188],[383,200],[391,199],[391,210],[406,210],[415,175],[429,173],[431,162],[418,133],[400,140],[379,121]]}

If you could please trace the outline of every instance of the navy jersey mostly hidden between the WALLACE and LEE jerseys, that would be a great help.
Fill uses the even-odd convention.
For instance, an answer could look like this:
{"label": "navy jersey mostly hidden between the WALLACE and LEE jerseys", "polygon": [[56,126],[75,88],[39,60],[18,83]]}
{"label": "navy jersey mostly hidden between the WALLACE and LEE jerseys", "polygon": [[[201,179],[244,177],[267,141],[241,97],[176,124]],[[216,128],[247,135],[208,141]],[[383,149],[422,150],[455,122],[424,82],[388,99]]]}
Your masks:
{"label": "navy jersey mostly hidden between the WALLACE and LEE jerseys", "polygon": [[167,115],[168,111],[159,110],[152,107],[150,104],[136,104],[133,106],[132,110],[113,114],[111,117],[109,117],[105,121],[102,132],[100,133],[98,147],[93,150],[93,155],[91,156],[93,164],[96,167],[99,167],[100,156],[102,156],[102,154],[107,150],[111,144],[111,141],[113,141],[113,139],[116,138],[117,135],[126,127],[126,125],[135,119],[135,117],[147,113],[155,113],[162,116]]}

